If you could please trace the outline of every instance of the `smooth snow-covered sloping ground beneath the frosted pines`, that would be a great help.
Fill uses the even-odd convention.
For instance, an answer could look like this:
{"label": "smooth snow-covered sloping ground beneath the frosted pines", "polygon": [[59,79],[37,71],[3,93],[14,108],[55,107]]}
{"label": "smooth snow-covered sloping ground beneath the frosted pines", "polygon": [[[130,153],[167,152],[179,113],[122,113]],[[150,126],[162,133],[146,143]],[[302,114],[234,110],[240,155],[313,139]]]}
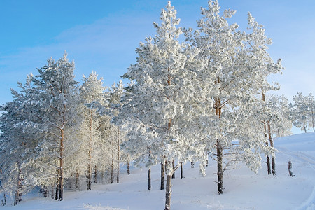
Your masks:
{"label": "smooth snow-covered sloping ground beneath the frosted pines", "polygon": [[[225,173],[225,193],[216,195],[216,165],[211,162],[207,176],[196,166],[184,166],[184,179],[173,179],[172,210],[192,209],[315,209],[315,133],[275,139],[276,176],[267,175],[263,165],[258,175],[245,166]],[[294,177],[288,176],[288,160]],[[94,190],[66,192],[64,201],[29,194],[18,206],[12,201],[2,209],[164,209],[165,191],[160,188],[160,167],[153,167],[152,191],[147,190],[147,170],[121,172],[119,184],[92,186]],[[126,175],[125,175],[126,174]]]}

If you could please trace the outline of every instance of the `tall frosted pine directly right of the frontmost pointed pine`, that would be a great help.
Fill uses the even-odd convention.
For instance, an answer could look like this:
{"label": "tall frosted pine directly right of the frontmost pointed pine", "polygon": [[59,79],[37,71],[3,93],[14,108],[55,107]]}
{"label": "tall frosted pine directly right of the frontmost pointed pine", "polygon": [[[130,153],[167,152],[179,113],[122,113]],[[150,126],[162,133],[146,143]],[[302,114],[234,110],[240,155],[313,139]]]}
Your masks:
{"label": "tall frosted pine directly right of the frontmost pointed pine", "polygon": [[[229,25],[227,20],[235,11],[225,10],[222,16],[219,12],[218,1],[209,1],[208,9],[202,8],[203,17],[197,22],[199,29],[194,33],[193,29],[188,29],[186,37],[200,50],[200,57],[206,63],[205,71],[215,78],[216,92],[208,99],[211,101],[209,108],[214,104],[214,109],[209,112],[209,122],[212,122],[209,125],[212,126],[204,144],[206,152],[212,151],[217,160],[218,194],[221,194],[223,171],[227,167],[223,166],[223,162],[243,160],[254,171],[260,167],[259,153],[266,149],[265,137],[263,134],[255,135],[259,130],[258,123],[249,125],[252,122],[248,119],[253,119],[255,114],[253,107],[257,101],[255,95],[258,94],[256,79],[265,81],[262,69],[269,65],[267,62],[270,60],[264,52],[266,38],[258,34],[259,30],[253,30],[248,35],[236,31],[238,25]],[[249,19],[253,26],[253,19]],[[263,32],[262,29],[260,31]],[[258,37],[263,39],[260,41]],[[255,41],[255,45],[249,48],[252,41]],[[223,158],[228,160],[224,161]]]}

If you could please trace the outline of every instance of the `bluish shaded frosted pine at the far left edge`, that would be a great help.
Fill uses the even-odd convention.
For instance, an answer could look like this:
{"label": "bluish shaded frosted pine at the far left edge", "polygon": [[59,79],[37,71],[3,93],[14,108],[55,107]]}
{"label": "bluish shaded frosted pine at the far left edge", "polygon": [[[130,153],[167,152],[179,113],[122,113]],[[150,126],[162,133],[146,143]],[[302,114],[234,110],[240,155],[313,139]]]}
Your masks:
{"label": "bluish shaded frosted pine at the far left edge", "polygon": [[34,110],[25,107],[25,102],[33,94],[32,79],[30,74],[25,85],[18,83],[20,92],[11,89],[13,102],[0,106],[1,189],[7,195],[15,194],[14,205],[22,200],[22,194],[36,186],[32,162],[38,155],[36,146],[40,136],[29,132],[29,127],[36,127],[29,119]]}

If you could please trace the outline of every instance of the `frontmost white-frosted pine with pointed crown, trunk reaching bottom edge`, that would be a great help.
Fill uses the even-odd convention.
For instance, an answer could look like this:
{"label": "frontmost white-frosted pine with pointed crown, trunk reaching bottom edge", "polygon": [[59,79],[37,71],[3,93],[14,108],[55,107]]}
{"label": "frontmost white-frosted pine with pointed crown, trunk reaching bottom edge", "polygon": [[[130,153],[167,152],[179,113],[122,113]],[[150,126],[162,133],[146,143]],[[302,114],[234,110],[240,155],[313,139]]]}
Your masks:
{"label": "frontmost white-frosted pine with pointed crown, trunk reaching bottom edge", "polygon": [[197,69],[193,68],[200,63],[195,62],[193,50],[179,43],[182,31],[176,27],[179,19],[170,2],[166,10],[162,10],[160,19],[161,25],[154,23],[155,37],[140,43],[136,50],[137,63],[124,75],[134,83],[127,87],[130,97],[120,112],[120,119],[129,125],[125,149],[135,150],[130,153],[146,151],[146,158],[139,157],[136,162],[144,162],[148,168],[158,162],[166,163],[165,209],[170,209],[172,174],[181,162],[204,154],[195,137],[197,126],[194,127],[196,116],[200,115],[195,106],[202,88],[196,85]]}

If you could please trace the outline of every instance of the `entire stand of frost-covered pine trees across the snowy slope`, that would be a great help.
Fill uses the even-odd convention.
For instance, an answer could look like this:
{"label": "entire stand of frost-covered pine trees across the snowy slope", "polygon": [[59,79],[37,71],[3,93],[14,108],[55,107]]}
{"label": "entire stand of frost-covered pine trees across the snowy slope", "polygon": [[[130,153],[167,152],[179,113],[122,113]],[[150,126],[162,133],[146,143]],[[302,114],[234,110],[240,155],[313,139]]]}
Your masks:
{"label": "entire stand of frost-covered pine trees across the snowy slope", "polygon": [[206,176],[207,160],[216,160],[218,194],[238,162],[253,172],[267,162],[262,167],[276,174],[273,139],[291,134],[292,124],[314,130],[314,96],[298,93],[292,104],[274,95],[279,85],[267,77],[283,67],[267,53],[265,29],[248,13],[239,31],[228,23],[235,11],[219,10],[210,0],[198,28],[182,29],[167,3],[122,76],[125,87],[121,80],[106,87],[95,72],[79,83],[66,53],[18,83],[0,106],[2,203],[11,195],[18,204],[33,189],[61,201],[64,189],[119,183],[121,164],[128,174],[130,164],[146,167],[148,190],[150,169],[160,165],[165,209],[172,176],[186,162]]}

